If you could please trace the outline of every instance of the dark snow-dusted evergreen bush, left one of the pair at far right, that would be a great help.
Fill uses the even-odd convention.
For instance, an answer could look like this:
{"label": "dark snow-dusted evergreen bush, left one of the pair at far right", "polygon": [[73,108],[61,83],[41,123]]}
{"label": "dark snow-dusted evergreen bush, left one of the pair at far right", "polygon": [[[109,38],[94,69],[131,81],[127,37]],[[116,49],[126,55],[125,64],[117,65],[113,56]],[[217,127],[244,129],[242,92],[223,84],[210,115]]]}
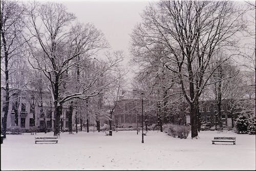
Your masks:
{"label": "dark snow-dusted evergreen bush, left one of the pair at far right", "polygon": [[236,132],[238,134],[247,134],[248,126],[249,126],[249,116],[247,114],[239,115],[235,122]]}

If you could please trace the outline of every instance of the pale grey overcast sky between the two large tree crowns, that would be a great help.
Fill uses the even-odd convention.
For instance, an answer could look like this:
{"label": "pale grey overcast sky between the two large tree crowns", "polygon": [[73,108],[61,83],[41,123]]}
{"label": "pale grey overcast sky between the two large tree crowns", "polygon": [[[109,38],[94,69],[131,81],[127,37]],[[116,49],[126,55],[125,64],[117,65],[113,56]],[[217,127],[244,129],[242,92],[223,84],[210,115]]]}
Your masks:
{"label": "pale grey overcast sky between the two large tree crowns", "polygon": [[[66,5],[69,12],[73,12],[77,20],[82,23],[91,22],[100,29],[110,42],[113,50],[123,50],[125,60],[129,61],[130,34],[136,23],[141,21],[140,14],[152,0],[137,1],[88,1],[88,0],[53,0]],[[131,69],[126,65],[126,69]],[[133,74],[130,72],[128,78]]]}

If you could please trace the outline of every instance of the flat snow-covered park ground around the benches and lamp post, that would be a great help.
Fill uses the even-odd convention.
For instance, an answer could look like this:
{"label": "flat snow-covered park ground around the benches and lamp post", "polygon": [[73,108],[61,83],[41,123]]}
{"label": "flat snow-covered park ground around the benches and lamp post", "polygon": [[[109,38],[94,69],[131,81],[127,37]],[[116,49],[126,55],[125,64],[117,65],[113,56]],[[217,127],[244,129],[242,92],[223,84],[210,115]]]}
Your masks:
{"label": "flat snow-covered park ground around the benches and lamp post", "polygon": [[[235,136],[236,145],[211,144],[215,136]],[[51,144],[35,144],[34,137],[7,135],[1,144],[1,169],[255,169],[255,135],[231,131],[201,131],[198,139],[149,131],[144,143],[136,131],[113,132],[113,136],[104,132],[61,133],[59,142]]]}

